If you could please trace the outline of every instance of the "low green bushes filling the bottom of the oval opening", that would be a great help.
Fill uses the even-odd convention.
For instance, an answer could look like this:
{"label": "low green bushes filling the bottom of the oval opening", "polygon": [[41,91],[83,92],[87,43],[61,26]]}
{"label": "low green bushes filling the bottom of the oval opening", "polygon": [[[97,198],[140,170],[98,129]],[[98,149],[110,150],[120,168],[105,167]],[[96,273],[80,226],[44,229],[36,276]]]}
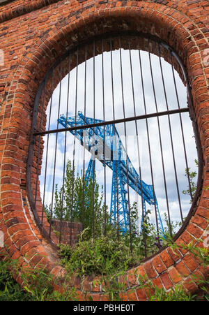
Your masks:
{"label": "low green bushes filling the bottom of the oval opening", "polygon": [[[80,277],[88,274],[114,274],[119,270],[131,268],[139,264],[146,254],[155,254],[159,249],[156,246],[155,226],[150,224],[149,214],[144,217],[144,234],[136,233],[137,207],[132,207],[132,252],[130,251],[130,231],[123,235],[117,233],[116,227],[111,226],[107,235],[89,238],[88,228],[80,235],[75,247],[60,245],[59,256],[61,263],[70,272],[77,273]],[[146,241],[145,241],[146,240]]]}

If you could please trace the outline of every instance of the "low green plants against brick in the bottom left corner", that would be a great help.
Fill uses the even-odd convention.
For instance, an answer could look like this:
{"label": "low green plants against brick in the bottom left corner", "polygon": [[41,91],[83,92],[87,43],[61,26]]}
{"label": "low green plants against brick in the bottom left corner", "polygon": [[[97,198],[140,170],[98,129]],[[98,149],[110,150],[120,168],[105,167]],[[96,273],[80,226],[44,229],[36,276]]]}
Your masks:
{"label": "low green plants against brick in the bottom left corner", "polygon": [[[22,286],[14,280],[20,274]],[[20,268],[18,261],[0,261],[0,301],[75,300],[75,288],[63,284],[64,293],[54,291],[55,281],[45,268]]]}

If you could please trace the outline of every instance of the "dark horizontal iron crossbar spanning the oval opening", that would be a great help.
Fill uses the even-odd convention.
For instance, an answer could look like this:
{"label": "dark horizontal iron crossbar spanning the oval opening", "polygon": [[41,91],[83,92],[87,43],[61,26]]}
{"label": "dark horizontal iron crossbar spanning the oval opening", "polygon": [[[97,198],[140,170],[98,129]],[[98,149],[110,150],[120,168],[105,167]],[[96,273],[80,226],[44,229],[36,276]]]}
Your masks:
{"label": "dark horizontal iron crossbar spanning the oval opening", "polygon": [[107,126],[108,124],[120,124],[123,122],[133,122],[134,120],[141,120],[141,119],[147,119],[147,118],[153,118],[153,117],[160,117],[165,115],[173,115],[178,114],[180,112],[189,112],[189,108],[178,108],[176,110],[166,110],[164,112],[153,112],[152,114],[146,114],[146,115],[139,115],[134,117],[127,117],[123,119],[115,119],[115,120],[109,120],[107,122],[99,122],[96,124],[86,124],[84,126],[75,126],[75,127],[69,127],[69,128],[61,128],[61,129],[52,129],[48,131],[41,131],[33,133],[33,135],[48,135],[49,133],[59,133],[63,131],[72,131],[72,130],[80,130],[80,129],[87,129],[87,128],[94,128],[98,126]]}

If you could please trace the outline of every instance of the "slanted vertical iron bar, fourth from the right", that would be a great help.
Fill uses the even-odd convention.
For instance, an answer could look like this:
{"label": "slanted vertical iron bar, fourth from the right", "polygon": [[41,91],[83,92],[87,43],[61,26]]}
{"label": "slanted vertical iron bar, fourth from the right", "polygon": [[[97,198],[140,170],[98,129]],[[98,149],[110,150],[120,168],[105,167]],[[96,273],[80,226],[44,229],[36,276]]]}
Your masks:
{"label": "slanted vertical iron bar, fourth from the right", "polygon": [[[146,98],[145,98],[145,91],[144,91],[144,78],[143,78],[143,70],[142,70],[142,64],[141,64],[141,52],[140,52],[140,50],[139,50],[139,64],[140,64],[140,73],[141,73],[141,86],[142,86],[143,100],[144,100],[144,111],[145,111],[145,114],[147,114]],[[147,138],[148,138],[148,152],[149,152],[149,160],[150,160],[151,180],[152,180],[152,185],[153,185],[156,228],[157,228],[157,235],[159,236],[159,226],[158,226],[158,221],[157,221],[157,207],[156,207],[156,202],[155,202],[155,185],[154,185],[154,177],[153,177],[153,162],[152,162],[151,149],[150,149],[150,134],[149,134],[149,127],[148,127],[148,119],[147,118],[146,118],[146,134],[147,134]]]}

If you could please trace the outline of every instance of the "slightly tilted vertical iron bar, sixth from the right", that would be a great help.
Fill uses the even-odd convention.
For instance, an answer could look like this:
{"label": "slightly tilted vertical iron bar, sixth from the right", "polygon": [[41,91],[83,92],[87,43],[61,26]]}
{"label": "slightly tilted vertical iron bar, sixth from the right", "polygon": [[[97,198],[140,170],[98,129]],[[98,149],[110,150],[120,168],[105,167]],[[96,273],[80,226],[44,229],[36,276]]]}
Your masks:
{"label": "slightly tilted vertical iron bar, sixth from the right", "polygon": [[[125,101],[124,101],[124,91],[123,91],[123,63],[122,63],[122,53],[121,53],[121,36],[119,37],[119,52],[120,52],[120,64],[121,64],[121,92],[122,92],[122,103],[123,103],[123,118],[125,119]],[[128,219],[129,219],[129,233],[130,233],[130,251],[132,253],[132,223],[131,223],[131,213],[130,213],[130,191],[129,191],[128,166],[127,166],[127,132],[126,132],[125,122],[124,122],[124,132],[125,132],[127,203],[128,203],[128,217],[129,217]]]}

